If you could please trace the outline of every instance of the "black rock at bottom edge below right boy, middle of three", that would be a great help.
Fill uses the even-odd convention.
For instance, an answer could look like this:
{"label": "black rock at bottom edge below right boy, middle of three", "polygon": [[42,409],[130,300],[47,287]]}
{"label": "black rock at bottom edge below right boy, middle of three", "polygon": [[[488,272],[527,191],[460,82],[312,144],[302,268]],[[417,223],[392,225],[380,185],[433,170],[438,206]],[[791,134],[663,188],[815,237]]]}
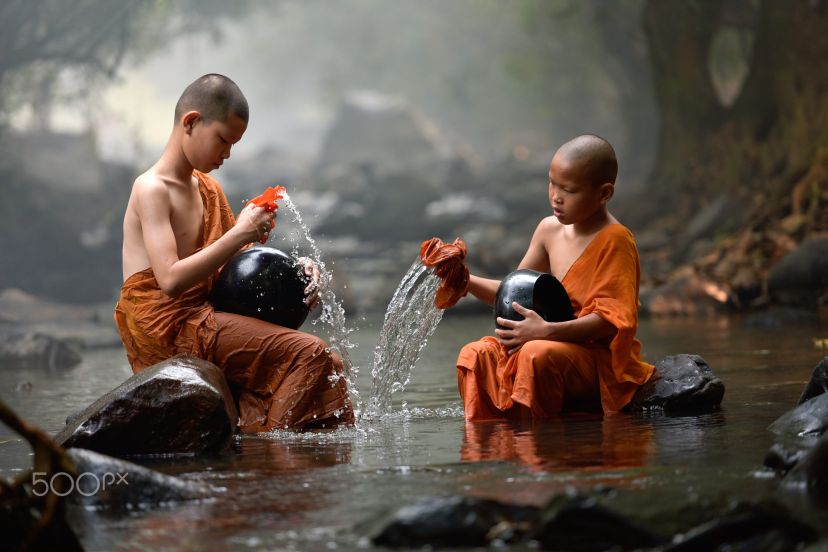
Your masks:
{"label": "black rock at bottom edge below right boy, middle of three", "polygon": [[558,495],[543,508],[540,521],[527,540],[542,550],[572,552],[638,550],[664,538],[581,495]]}

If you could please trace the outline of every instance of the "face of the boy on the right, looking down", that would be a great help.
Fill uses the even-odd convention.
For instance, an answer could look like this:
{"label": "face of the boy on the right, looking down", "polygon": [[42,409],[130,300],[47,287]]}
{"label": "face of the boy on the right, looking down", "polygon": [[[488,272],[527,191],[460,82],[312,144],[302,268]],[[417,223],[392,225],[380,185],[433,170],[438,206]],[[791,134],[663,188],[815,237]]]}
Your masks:
{"label": "face of the boy on the right, looking down", "polygon": [[[607,189],[609,188],[609,189]],[[561,224],[589,219],[612,197],[612,184],[598,186],[589,182],[583,167],[560,155],[549,166],[549,204]]]}

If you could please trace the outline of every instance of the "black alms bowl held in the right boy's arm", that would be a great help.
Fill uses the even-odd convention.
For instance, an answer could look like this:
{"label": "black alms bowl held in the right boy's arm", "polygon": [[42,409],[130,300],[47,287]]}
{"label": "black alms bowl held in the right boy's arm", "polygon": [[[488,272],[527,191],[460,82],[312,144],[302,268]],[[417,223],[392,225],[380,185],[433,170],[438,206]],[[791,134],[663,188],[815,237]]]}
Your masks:
{"label": "black alms bowl held in the right boy's arm", "polygon": [[532,309],[547,322],[575,318],[572,303],[563,285],[557,278],[545,272],[522,268],[509,273],[497,288],[495,319],[499,316],[507,320],[523,320],[523,316],[512,308],[513,302]]}

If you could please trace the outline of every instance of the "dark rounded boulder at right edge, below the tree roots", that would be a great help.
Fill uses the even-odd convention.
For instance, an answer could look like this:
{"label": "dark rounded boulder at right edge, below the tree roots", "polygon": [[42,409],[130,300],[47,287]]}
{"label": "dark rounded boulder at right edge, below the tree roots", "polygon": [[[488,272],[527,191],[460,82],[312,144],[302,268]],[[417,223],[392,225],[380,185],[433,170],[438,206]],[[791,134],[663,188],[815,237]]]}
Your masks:
{"label": "dark rounded boulder at right edge, below the tree roots", "polygon": [[808,238],[785,255],[768,274],[774,302],[813,308],[828,293],[828,237]]}

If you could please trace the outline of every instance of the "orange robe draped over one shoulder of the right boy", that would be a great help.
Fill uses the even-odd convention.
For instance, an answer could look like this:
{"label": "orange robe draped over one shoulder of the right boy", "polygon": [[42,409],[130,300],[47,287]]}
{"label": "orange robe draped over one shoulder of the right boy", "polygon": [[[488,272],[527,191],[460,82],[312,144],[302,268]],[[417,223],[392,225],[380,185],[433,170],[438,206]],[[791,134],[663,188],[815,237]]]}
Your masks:
{"label": "orange robe draped over one shoulder of the right boy", "polygon": [[511,355],[491,336],[463,347],[457,379],[466,419],[553,418],[590,403],[622,409],[653,373],[641,361],[638,251],[620,224],[602,229],[561,283],[576,317],[596,313],[618,330],[609,344],[529,341]]}

